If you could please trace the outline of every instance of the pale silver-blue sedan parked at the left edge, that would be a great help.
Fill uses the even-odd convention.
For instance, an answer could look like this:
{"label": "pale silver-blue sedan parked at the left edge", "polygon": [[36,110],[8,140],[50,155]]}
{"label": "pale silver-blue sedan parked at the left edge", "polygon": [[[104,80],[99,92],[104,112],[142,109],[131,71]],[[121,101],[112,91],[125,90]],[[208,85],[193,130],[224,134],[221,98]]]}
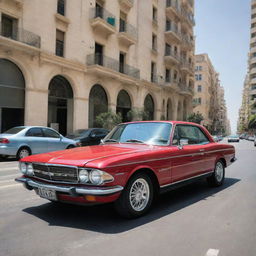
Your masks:
{"label": "pale silver-blue sedan parked at the left edge", "polygon": [[40,126],[18,126],[0,134],[0,157],[18,159],[76,147],[76,141],[63,137],[57,131]]}

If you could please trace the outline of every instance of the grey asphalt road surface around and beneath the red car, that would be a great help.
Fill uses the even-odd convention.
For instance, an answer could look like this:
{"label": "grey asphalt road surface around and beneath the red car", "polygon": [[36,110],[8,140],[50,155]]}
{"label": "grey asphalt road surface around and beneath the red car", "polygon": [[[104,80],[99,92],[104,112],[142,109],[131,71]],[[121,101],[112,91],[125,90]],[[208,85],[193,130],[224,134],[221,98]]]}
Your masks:
{"label": "grey asphalt road surface around and beneath the red car", "polygon": [[0,162],[0,255],[256,255],[256,147],[234,143],[225,184],[205,181],[164,194],[146,216],[111,205],[58,206],[16,184],[17,162]]}

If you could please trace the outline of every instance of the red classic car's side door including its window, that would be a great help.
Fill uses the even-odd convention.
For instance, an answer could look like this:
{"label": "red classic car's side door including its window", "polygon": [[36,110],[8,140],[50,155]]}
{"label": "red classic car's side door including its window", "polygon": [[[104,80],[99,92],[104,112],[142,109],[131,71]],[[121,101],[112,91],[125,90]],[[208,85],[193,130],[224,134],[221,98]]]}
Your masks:
{"label": "red classic car's side door including its window", "polygon": [[[193,125],[178,124],[175,127],[172,145],[179,147],[171,161],[172,182],[191,178],[204,172],[205,145],[209,142],[205,136],[205,142],[200,141],[200,129]],[[180,146],[181,141],[187,141]]]}

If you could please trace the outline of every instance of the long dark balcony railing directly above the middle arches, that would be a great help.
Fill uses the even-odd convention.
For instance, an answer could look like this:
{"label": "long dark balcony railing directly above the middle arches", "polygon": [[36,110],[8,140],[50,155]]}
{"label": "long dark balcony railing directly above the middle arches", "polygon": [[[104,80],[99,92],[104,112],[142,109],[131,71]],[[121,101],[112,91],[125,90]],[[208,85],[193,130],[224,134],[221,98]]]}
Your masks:
{"label": "long dark balcony railing directly above the middle arches", "polygon": [[122,64],[120,61],[104,56],[102,54],[90,54],[87,55],[86,63],[88,66],[100,65],[116,72],[123,73],[125,75],[140,78],[140,70],[127,64]]}

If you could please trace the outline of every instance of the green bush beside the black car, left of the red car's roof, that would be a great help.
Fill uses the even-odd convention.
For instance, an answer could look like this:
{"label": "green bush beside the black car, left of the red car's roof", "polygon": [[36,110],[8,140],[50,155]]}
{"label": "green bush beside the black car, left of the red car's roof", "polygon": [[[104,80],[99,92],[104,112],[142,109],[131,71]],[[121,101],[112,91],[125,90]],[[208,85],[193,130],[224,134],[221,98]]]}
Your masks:
{"label": "green bush beside the black car, left of the red car's roof", "polygon": [[122,116],[120,113],[116,114],[113,111],[108,111],[96,116],[96,123],[98,126],[111,130],[117,124],[122,123]]}

